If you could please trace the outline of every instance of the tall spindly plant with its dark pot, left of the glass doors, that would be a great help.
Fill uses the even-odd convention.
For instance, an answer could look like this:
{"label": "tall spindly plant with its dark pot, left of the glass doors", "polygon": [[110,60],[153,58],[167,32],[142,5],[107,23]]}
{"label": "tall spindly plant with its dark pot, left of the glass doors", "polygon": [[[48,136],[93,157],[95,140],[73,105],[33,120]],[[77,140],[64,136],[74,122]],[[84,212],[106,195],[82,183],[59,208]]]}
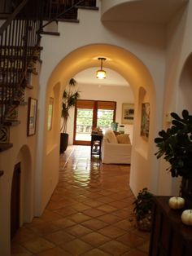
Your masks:
{"label": "tall spindly plant with its dark pot, left of the glass doors", "polygon": [[69,110],[76,105],[76,100],[80,97],[79,90],[74,90],[76,87],[76,80],[71,78],[68,82],[68,86],[63,91],[63,99],[62,99],[62,126],[61,126],[61,135],[60,135],[60,153],[65,152],[68,148],[68,134],[67,132],[67,124],[69,117]]}

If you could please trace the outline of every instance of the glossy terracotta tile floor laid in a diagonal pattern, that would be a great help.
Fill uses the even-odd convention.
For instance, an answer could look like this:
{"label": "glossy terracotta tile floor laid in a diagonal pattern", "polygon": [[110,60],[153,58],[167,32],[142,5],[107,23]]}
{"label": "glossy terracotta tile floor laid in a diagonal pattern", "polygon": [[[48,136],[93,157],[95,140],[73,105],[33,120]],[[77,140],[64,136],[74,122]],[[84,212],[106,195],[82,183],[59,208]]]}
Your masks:
{"label": "glossy terracotta tile floor laid in a diagonal pattern", "polygon": [[59,183],[41,218],[11,241],[15,256],[146,256],[150,234],[137,230],[129,166],[103,165],[90,147],[60,156]]}

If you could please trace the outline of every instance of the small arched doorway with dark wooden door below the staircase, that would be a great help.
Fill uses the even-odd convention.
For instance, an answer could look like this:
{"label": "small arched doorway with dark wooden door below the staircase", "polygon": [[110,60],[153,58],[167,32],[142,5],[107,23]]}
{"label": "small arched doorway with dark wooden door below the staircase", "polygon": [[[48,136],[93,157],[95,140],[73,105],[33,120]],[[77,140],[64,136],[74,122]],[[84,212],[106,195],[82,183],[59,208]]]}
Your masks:
{"label": "small arched doorway with dark wooden door below the staircase", "polygon": [[20,148],[11,182],[11,238],[23,223],[33,218],[33,174],[28,146]]}

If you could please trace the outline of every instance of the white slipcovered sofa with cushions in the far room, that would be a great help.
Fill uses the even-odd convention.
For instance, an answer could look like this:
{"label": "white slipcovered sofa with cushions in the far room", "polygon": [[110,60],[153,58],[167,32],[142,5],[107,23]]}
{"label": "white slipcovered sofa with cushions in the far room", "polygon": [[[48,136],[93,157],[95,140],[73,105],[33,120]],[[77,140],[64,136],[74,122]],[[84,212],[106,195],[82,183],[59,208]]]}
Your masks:
{"label": "white slipcovered sofa with cushions in the far room", "polygon": [[130,164],[131,149],[129,135],[115,135],[107,130],[102,142],[103,164]]}

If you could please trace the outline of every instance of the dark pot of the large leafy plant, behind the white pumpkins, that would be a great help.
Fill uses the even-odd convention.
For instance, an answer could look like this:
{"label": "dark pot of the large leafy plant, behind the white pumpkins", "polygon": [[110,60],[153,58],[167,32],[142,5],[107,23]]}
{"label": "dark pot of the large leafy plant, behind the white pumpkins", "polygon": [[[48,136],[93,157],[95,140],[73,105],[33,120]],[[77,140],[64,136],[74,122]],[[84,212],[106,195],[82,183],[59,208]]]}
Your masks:
{"label": "dark pot of the large leafy plant, behind the white pumpkins", "polygon": [[186,208],[192,208],[192,179],[182,178],[181,196],[185,199]]}

